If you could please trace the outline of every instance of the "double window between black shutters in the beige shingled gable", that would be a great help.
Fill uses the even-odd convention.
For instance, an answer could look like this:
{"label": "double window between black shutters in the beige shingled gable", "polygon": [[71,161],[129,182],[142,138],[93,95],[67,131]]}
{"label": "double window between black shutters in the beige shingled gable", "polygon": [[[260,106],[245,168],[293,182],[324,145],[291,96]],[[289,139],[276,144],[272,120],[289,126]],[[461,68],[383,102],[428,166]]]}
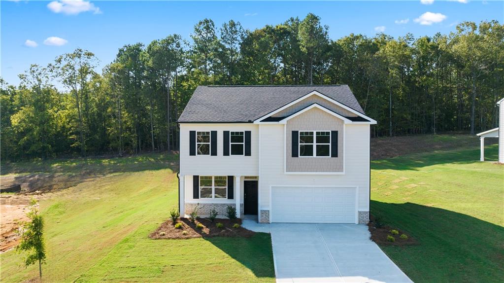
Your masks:
{"label": "double window between black shutters in the beige shingled gable", "polygon": [[302,131],[299,132],[299,156],[301,157],[330,157],[330,131]]}

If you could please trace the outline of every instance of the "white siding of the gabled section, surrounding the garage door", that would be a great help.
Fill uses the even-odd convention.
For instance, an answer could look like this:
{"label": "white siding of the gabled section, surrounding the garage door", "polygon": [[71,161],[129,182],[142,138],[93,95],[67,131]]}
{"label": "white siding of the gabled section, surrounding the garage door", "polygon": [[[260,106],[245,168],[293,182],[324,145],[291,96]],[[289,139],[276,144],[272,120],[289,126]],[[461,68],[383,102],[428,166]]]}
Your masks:
{"label": "white siding of the gabled section, surrounding the garage door", "polygon": [[[357,186],[358,210],[369,210],[369,125],[346,124],[345,174],[297,175],[285,174],[286,137],[284,125],[260,125],[260,208],[269,209],[270,186]],[[287,133],[289,134],[289,133]]]}

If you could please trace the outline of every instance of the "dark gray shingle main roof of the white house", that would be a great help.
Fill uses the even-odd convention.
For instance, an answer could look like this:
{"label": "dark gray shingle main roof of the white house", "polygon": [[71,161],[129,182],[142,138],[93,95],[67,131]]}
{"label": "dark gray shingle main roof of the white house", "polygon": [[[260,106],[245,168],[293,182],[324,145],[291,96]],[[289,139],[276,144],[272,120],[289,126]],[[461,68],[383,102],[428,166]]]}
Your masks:
{"label": "dark gray shingle main roof of the white house", "polygon": [[198,86],[178,122],[252,122],[313,90],[364,114],[348,85]]}

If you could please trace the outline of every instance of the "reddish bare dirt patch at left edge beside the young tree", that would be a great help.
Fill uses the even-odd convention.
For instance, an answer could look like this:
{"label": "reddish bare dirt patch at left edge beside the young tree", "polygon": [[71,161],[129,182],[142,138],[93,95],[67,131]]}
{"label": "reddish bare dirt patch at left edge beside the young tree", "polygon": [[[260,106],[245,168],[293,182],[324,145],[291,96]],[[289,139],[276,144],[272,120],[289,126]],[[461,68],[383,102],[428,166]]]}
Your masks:
{"label": "reddish bare dirt patch at left edge beside the young tree", "polygon": [[0,252],[8,251],[19,243],[17,234],[20,224],[28,220],[26,212],[31,197],[26,195],[0,195]]}

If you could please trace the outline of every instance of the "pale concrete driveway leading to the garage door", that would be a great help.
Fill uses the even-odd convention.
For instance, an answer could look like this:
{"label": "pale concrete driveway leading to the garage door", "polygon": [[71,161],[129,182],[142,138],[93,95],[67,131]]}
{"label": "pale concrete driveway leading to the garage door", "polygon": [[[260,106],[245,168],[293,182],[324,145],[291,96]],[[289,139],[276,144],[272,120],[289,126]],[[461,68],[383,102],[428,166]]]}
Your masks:
{"label": "pale concrete driveway leading to the garage door", "polygon": [[412,282],[366,225],[270,224],[277,282]]}

